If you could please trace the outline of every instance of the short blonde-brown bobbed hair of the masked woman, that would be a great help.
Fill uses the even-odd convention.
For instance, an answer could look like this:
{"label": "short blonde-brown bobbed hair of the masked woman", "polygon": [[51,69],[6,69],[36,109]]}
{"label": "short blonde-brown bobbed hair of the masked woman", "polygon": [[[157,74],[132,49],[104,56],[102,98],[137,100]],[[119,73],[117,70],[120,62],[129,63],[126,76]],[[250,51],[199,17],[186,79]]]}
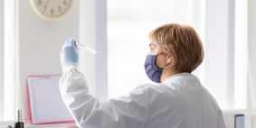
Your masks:
{"label": "short blonde-brown bobbed hair of the masked woman", "polygon": [[191,73],[204,60],[204,47],[197,32],[189,25],[168,23],[149,32],[163,52],[173,57],[175,71]]}

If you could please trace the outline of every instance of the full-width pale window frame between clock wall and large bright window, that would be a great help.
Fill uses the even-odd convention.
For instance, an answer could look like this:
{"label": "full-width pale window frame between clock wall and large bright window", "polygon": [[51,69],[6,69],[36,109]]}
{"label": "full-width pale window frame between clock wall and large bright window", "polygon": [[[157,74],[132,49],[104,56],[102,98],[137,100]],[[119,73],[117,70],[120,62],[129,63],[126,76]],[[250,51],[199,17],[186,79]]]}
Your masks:
{"label": "full-width pale window frame between clock wall and large bright window", "polygon": [[107,1],[80,1],[80,12],[80,42],[97,54],[81,52],[79,69],[88,80],[90,94],[104,101],[108,99]]}

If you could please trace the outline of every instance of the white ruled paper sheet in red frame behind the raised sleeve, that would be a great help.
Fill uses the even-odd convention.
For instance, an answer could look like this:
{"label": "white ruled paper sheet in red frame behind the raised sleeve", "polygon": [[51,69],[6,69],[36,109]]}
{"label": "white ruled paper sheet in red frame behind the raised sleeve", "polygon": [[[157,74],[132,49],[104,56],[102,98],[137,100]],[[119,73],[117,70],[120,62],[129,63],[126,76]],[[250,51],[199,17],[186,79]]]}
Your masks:
{"label": "white ruled paper sheet in red frame behind the raised sleeve", "polygon": [[27,78],[33,123],[73,121],[62,101],[58,77]]}

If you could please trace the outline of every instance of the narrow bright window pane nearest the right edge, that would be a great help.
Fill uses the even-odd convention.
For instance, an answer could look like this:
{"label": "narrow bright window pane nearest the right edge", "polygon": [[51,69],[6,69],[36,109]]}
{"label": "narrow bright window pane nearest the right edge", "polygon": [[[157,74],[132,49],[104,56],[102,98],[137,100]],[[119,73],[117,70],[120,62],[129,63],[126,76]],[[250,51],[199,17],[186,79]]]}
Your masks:
{"label": "narrow bright window pane nearest the right edge", "polygon": [[248,78],[248,2],[235,1],[234,108],[247,106]]}

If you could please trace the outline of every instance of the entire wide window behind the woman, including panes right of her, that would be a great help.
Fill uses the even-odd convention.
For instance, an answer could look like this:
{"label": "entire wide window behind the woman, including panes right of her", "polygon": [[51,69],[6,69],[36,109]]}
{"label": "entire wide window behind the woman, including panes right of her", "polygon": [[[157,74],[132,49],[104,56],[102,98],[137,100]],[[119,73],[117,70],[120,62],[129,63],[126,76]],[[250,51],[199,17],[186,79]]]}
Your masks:
{"label": "entire wide window behind the woman, including panes right of her", "polygon": [[193,74],[222,109],[246,108],[248,6],[243,0],[109,0],[109,98],[151,82],[144,70],[148,32],[165,23],[185,23],[204,43],[204,62]]}

